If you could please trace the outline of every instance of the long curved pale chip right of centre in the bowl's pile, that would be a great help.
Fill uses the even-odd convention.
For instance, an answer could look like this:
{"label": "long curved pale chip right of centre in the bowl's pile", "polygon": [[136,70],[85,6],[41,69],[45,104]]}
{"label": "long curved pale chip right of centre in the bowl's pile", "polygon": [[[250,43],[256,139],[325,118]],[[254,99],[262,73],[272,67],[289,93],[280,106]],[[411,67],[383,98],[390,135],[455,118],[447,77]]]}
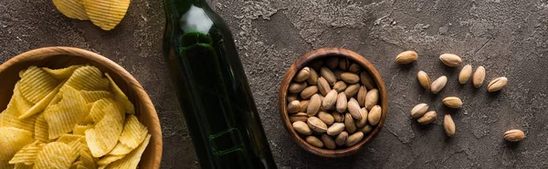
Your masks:
{"label": "long curved pale chip right of centre in the bowl's pile", "polygon": [[105,115],[94,128],[86,130],[86,141],[94,157],[111,152],[118,143],[123,128],[124,117],[115,104],[104,109]]}

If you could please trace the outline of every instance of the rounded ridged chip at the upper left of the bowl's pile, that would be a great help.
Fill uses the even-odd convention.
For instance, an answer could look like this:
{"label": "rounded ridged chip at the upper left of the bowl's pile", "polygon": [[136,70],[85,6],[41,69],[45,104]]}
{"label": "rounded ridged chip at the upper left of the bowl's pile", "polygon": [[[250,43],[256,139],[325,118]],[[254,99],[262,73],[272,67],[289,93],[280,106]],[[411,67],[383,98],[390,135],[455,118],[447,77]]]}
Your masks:
{"label": "rounded ridged chip at the upper left of the bowl's pile", "polygon": [[32,104],[38,103],[58,85],[57,79],[37,66],[28,67],[19,83],[21,94]]}

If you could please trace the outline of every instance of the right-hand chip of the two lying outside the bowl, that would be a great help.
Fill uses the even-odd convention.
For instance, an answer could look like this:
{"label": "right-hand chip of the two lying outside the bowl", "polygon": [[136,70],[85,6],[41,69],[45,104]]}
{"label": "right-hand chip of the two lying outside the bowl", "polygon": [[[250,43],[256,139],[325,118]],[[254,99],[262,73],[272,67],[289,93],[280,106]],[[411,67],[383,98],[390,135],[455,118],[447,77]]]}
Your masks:
{"label": "right-hand chip of the two lying outside the bowl", "polygon": [[120,24],[129,6],[130,0],[84,0],[91,23],[106,31]]}

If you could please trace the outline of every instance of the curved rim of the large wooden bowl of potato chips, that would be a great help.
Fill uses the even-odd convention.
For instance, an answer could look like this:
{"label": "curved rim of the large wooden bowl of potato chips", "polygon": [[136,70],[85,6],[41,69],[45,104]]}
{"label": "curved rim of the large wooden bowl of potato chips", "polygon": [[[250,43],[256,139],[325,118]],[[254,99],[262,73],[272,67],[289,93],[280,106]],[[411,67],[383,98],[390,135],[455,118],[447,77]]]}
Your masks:
{"label": "curved rim of the large wooden bowl of potato chips", "polygon": [[[30,51],[27,51],[25,53],[22,53],[20,55],[16,55],[7,61],[5,61],[4,64],[0,65],[0,73],[4,72],[6,69],[8,69],[12,65],[16,65],[17,63],[26,62],[26,61],[33,61],[37,59],[44,59],[48,56],[53,55],[70,55],[70,56],[76,56],[76,57],[83,57],[86,59],[89,59],[90,61],[96,62],[97,64],[103,65],[111,71],[116,72],[120,75],[121,79],[126,81],[129,88],[132,88],[134,90],[134,93],[136,96],[141,97],[140,100],[142,100],[142,103],[144,107],[153,107],[149,109],[148,111],[151,112],[150,116],[152,118],[152,124],[149,124],[149,132],[150,134],[155,137],[154,139],[151,139],[151,142],[147,146],[155,146],[154,147],[154,156],[153,156],[153,162],[151,162],[146,168],[160,168],[160,164],[162,162],[162,154],[163,154],[163,136],[161,131],[161,125],[160,121],[158,119],[158,114],[156,112],[156,109],[154,108],[153,102],[149,95],[146,93],[142,85],[131,75],[127,70],[125,70],[121,65],[116,64],[111,59],[99,55],[96,53],[93,53],[91,51],[80,49],[76,47],[68,47],[68,46],[49,46],[49,47],[42,47],[33,49]],[[150,130],[152,128],[152,131]],[[149,148],[147,147],[147,149]]]}

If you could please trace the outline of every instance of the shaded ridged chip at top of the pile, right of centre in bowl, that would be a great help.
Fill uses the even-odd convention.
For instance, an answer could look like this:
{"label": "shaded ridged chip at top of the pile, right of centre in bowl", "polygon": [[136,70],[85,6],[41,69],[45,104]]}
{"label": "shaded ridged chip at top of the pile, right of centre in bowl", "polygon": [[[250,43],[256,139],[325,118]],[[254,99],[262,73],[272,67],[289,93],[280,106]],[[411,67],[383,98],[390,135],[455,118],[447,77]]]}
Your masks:
{"label": "shaded ridged chip at top of the pile, right of centre in bowl", "polygon": [[66,83],[76,90],[107,90],[109,80],[102,77],[100,70],[91,65],[84,65],[74,71]]}

